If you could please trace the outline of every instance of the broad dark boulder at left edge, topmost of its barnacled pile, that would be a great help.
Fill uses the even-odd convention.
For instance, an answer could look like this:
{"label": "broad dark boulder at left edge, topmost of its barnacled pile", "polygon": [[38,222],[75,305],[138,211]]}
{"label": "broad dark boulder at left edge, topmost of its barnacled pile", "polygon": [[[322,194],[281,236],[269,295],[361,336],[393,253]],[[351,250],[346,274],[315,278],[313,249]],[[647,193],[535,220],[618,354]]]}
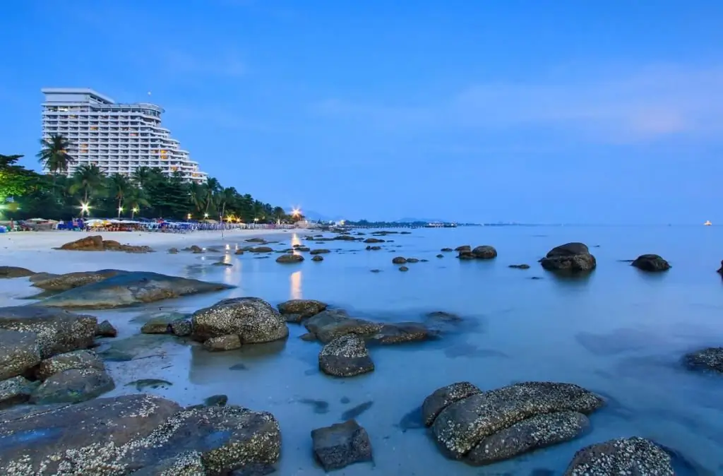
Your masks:
{"label": "broad dark boulder at left edge, topmost of its barnacled pile", "polygon": [[40,357],[93,346],[98,320],[90,315],[38,306],[0,307],[0,329],[37,334]]}

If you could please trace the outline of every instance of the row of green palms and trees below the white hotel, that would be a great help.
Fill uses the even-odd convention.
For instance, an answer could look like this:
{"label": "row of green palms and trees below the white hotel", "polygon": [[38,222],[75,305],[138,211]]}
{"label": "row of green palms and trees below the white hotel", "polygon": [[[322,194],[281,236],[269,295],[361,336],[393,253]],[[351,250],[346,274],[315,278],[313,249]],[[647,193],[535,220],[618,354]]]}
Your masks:
{"label": "row of green palms and trees below the white hotel", "polygon": [[94,164],[78,166],[69,155],[67,138],[53,135],[40,140],[38,161],[48,174],[25,169],[20,155],[0,154],[0,217],[2,219],[50,218],[67,220],[80,216],[98,218],[211,218],[245,223],[297,221],[283,208],[263,203],[217,179],[203,184],[185,182],[180,172],[139,167],[129,177],[106,174]]}

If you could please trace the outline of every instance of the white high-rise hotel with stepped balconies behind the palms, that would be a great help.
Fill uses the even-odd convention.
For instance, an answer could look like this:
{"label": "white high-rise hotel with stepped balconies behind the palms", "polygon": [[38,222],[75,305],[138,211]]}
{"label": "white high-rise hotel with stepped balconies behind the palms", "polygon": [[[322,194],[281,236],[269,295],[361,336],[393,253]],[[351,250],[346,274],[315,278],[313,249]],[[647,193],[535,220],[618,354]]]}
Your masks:
{"label": "white high-rise hotel with stepped balconies behind the palms", "polygon": [[43,139],[60,134],[72,144],[77,166],[94,163],[106,174],[132,174],[140,166],[184,179],[205,182],[207,176],[180,148],[171,131],[161,127],[163,109],[149,103],[120,104],[85,88],[44,88]]}

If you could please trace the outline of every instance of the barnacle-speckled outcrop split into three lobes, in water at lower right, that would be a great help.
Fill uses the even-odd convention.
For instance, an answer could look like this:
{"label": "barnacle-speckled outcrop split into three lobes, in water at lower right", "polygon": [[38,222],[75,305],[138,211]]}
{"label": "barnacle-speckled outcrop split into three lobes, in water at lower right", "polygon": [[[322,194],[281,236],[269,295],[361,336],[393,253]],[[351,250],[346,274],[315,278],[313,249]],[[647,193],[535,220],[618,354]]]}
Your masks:
{"label": "barnacle-speckled outcrop split into three lobes, in water at lower right", "polygon": [[422,404],[442,454],[482,465],[568,441],[588,427],[601,397],[570,383],[525,382],[481,391],[469,382],[443,387]]}

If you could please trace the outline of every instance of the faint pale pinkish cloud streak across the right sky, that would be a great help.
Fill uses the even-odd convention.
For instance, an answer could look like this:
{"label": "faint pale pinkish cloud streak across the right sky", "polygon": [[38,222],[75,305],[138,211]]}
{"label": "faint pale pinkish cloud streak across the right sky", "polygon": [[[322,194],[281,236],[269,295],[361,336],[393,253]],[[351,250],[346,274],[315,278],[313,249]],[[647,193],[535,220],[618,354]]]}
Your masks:
{"label": "faint pale pinkish cloud streak across the right sky", "polygon": [[416,106],[336,99],[317,103],[312,111],[384,129],[549,129],[604,143],[723,132],[723,68],[646,67],[614,75],[580,78],[570,71],[570,78],[557,76],[544,82],[476,83]]}

